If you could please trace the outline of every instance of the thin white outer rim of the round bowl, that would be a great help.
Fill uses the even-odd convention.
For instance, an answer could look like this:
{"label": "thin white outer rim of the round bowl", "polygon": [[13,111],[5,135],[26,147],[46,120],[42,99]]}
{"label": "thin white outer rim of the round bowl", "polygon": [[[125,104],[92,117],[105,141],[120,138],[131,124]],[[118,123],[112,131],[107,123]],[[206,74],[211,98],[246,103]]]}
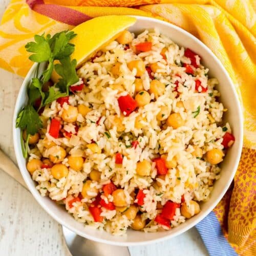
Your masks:
{"label": "thin white outer rim of the round bowl", "polygon": [[[239,101],[239,98],[238,98],[238,95],[237,95],[237,92],[236,92],[236,89],[234,87],[234,84],[229,76],[229,74],[227,73],[226,69],[224,68],[224,66],[222,65],[221,61],[216,57],[216,55],[214,53],[212,53],[212,51],[206,46],[203,44],[202,41],[200,41],[197,37],[195,37],[194,35],[190,34],[189,32],[187,32],[186,30],[174,25],[174,24],[171,24],[171,23],[168,23],[168,22],[165,22],[163,20],[160,20],[160,19],[156,19],[156,18],[153,18],[153,17],[146,17],[146,16],[136,16],[136,15],[127,15],[127,16],[133,16],[135,17],[137,20],[150,20],[151,22],[154,22],[156,24],[156,26],[158,24],[162,24],[162,25],[166,25],[172,29],[175,29],[177,30],[178,32],[181,32],[183,33],[185,36],[193,39],[194,41],[196,41],[197,44],[199,44],[200,47],[204,48],[205,51],[208,52],[208,54],[211,55],[212,58],[215,59],[215,61],[217,62],[217,64],[220,66],[220,68],[222,69],[222,72],[224,73],[224,75],[226,76],[226,78],[228,79],[229,83],[231,84],[231,87],[232,87],[232,91],[234,92],[234,100],[235,102],[233,102],[234,104],[236,104],[238,106],[238,109],[239,109],[239,113],[237,113],[237,116],[238,116],[238,122],[239,122],[239,126],[240,126],[240,130],[239,130],[239,134],[241,135],[239,140],[236,140],[236,143],[238,143],[238,153],[237,153],[237,158],[236,158],[236,161],[234,163],[234,168],[232,170],[232,174],[230,175],[229,177],[229,180],[228,182],[226,183],[227,185],[225,186],[225,189],[223,189],[222,193],[220,193],[219,197],[217,197],[217,199],[211,204],[210,207],[208,207],[204,213],[201,215],[200,218],[196,218],[194,221],[191,221],[191,223],[188,223],[187,225],[184,225],[184,227],[180,230],[178,230],[177,232],[174,232],[174,233],[170,233],[168,234],[166,232],[166,236],[164,237],[160,237],[160,238],[156,238],[156,239],[152,239],[152,240],[147,240],[147,241],[139,241],[139,242],[118,242],[118,241],[109,241],[109,240],[104,240],[104,239],[101,239],[101,238],[98,238],[98,237],[95,237],[95,236],[91,236],[90,234],[85,234],[85,233],[82,233],[80,232],[79,230],[77,230],[76,228],[74,228],[72,225],[70,225],[69,223],[65,223],[64,221],[62,221],[62,219],[58,218],[53,210],[51,210],[50,207],[45,207],[44,203],[42,202],[42,197],[41,195],[39,195],[37,192],[37,190],[35,189],[35,186],[31,185],[30,181],[31,181],[31,178],[26,176],[25,173],[24,173],[24,165],[22,163],[22,158],[23,156],[20,156],[20,152],[18,150],[18,143],[20,143],[19,140],[16,140],[15,139],[15,136],[17,134],[17,131],[18,129],[16,129],[16,116],[17,116],[17,113],[19,112],[20,110],[20,107],[18,106],[18,102],[20,102],[22,100],[22,92],[24,91],[24,88],[27,86],[27,83],[26,83],[26,80],[28,77],[31,76],[32,72],[34,72],[35,70],[35,67],[37,65],[37,63],[34,63],[34,65],[31,67],[31,69],[29,70],[28,74],[26,75],[25,77],[25,80],[24,82],[22,83],[22,86],[20,87],[19,89],[19,93],[18,93],[18,96],[17,96],[17,99],[16,99],[16,103],[15,103],[15,108],[14,108],[14,115],[13,115],[13,144],[14,144],[14,151],[15,151],[15,157],[17,159],[17,163],[18,163],[18,167],[19,167],[19,170],[20,170],[20,173],[22,174],[23,176],[23,179],[25,180],[31,194],[33,195],[33,197],[36,199],[36,201],[39,203],[39,205],[54,219],[56,220],[59,224],[67,227],[68,229],[72,230],[73,232],[75,232],[76,234],[78,234],[79,236],[81,237],[84,237],[84,238],[87,238],[87,239],[90,239],[90,240],[93,240],[93,241],[96,241],[96,242],[100,242],[100,243],[105,243],[105,244],[110,244],[110,245],[117,245],[117,246],[136,246],[136,245],[148,245],[148,244],[152,244],[152,243],[156,243],[156,242],[160,242],[160,241],[165,241],[167,239],[170,239],[170,238],[174,238],[176,236],[178,236],[179,234],[181,233],[184,233],[185,231],[187,231],[188,229],[196,226],[200,221],[202,221],[209,213],[210,211],[212,211],[212,209],[214,209],[216,207],[216,205],[220,202],[220,200],[222,199],[222,197],[224,196],[224,194],[226,193],[228,187],[230,186],[232,180],[233,180],[233,177],[234,175],[236,174],[236,171],[237,171],[237,167],[238,167],[238,164],[239,164],[239,161],[240,161],[240,157],[241,157],[241,153],[242,153],[242,146],[243,146],[243,115],[242,115],[242,107],[241,107],[241,103]],[[22,155],[22,154],[21,154]],[[22,158],[20,158],[22,157]]]}

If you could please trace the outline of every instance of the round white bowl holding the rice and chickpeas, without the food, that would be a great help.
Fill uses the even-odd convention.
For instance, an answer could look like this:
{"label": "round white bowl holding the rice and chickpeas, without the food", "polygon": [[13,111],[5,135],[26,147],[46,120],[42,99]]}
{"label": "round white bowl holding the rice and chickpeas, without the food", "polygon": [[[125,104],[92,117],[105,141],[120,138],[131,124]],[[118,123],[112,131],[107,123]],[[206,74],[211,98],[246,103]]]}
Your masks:
{"label": "round white bowl holding the rice and chickpeas, without the food", "polygon": [[130,27],[130,31],[139,33],[144,29],[158,28],[161,33],[170,37],[179,46],[190,48],[198,53],[202,57],[203,65],[209,68],[209,77],[216,77],[220,82],[220,86],[218,88],[222,95],[220,100],[223,102],[225,108],[228,109],[224,115],[224,121],[228,120],[230,123],[233,135],[236,137],[236,142],[231,148],[229,148],[227,155],[221,164],[221,178],[215,182],[210,199],[201,204],[201,212],[198,215],[169,231],[144,233],[129,229],[127,231],[127,236],[123,237],[115,237],[105,231],[94,230],[84,226],[84,224],[78,223],[64,208],[54,203],[54,201],[48,197],[40,196],[40,193],[35,188],[35,182],[31,179],[31,176],[27,171],[26,160],[22,155],[22,148],[20,145],[20,130],[16,129],[15,121],[18,112],[26,104],[26,88],[28,82],[35,72],[35,65],[29,71],[22,84],[22,87],[20,88],[13,118],[13,141],[18,166],[32,195],[42,206],[42,208],[44,208],[48,214],[61,225],[66,226],[84,238],[120,246],[149,244],[152,242],[173,238],[195,226],[204,217],[206,217],[224,196],[234,177],[234,174],[236,173],[241,156],[243,138],[243,118],[240,102],[231,79],[217,57],[200,40],[179,27],[154,18],[139,16],[136,16],[136,18],[137,22],[135,25]]}

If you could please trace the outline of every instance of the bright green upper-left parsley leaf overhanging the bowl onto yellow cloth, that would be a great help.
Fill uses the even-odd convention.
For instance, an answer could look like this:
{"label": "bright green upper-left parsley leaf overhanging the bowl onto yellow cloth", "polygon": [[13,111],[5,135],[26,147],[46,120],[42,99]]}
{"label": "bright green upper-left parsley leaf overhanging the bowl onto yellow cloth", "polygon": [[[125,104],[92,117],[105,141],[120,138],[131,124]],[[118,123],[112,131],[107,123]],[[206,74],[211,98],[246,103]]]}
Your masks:
{"label": "bright green upper-left parsley leaf overhanging the bowl onto yellow cloth", "polygon": [[34,62],[44,62],[51,57],[51,48],[44,35],[35,35],[35,42],[28,42],[25,46],[28,52],[35,53],[29,56],[29,59]]}

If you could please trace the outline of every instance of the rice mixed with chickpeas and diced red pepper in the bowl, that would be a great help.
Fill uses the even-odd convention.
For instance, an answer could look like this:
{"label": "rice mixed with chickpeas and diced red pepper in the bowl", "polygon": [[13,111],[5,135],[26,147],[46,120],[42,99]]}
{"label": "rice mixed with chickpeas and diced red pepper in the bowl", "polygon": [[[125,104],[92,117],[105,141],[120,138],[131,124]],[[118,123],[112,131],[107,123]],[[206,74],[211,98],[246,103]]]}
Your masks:
{"label": "rice mixed with chickpeas and diced red pepper in the bowl", "polygon": [[124,31],[47,105],[27,168],[42,196],[115,235],[170,229],[200,212],[234,138],[216,78],[157,30]]}

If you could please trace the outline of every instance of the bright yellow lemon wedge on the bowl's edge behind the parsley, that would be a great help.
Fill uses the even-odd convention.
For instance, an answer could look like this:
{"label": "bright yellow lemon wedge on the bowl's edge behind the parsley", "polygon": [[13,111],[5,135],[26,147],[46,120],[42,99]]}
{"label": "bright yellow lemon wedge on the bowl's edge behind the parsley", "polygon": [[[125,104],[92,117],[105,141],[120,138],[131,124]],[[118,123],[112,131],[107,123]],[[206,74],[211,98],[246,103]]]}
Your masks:
{"label": "bright yellow lemon wedge on the bowl's edge behind the parsley", "polygon": [[[136,22],[135,17],[124,15],[100,16],[88,20],[72,31],[77,35],[70,40],[75,45],[71,59],[77,60],[77,68],[89,59],[96,51],[115,40],[119,34]],[[51,79],[54,82],[59,80],[59,75],[53,71]]]}

